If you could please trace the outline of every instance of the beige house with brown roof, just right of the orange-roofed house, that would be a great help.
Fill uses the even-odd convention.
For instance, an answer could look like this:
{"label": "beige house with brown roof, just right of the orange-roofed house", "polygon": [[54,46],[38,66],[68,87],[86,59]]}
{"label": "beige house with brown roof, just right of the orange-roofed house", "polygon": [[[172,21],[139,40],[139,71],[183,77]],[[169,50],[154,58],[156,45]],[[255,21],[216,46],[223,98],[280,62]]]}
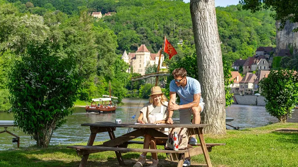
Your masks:
{"label": "beige house with brown roof, just right of the orange-roofed house", "polygon": [[254,80],[256,78],[256,74],[247,72],[242,80],[239,82],[239,93],[242,95],[252,94],[254,88]]}

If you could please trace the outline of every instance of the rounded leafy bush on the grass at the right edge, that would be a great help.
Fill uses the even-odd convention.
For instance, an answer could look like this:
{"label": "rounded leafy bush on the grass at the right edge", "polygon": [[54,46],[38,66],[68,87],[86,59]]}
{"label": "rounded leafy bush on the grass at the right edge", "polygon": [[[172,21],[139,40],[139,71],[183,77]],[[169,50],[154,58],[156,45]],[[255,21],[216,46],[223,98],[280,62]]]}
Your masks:
{"label": "rounded leafy bush on the grass at the right edge", "polygon": [[285,123],[292,109],[298,104],[298,76],[294,70],[272,70],[260,81],[261,95],[266,102],[266,111]]}

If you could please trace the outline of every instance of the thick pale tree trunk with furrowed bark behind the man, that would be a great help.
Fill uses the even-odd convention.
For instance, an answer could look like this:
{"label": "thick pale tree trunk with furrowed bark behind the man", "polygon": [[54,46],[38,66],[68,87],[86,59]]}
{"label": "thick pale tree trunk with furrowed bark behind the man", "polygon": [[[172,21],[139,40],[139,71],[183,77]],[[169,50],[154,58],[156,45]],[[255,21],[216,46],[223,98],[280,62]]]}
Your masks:
{"label": "thick pale tree trunk with furrowed bark behind the man", "polygon": [[190,0],[190,14],[198,62],[198,81],[205,109],[201,114],[205,133],[226,134],[224,71],[214,0]]}

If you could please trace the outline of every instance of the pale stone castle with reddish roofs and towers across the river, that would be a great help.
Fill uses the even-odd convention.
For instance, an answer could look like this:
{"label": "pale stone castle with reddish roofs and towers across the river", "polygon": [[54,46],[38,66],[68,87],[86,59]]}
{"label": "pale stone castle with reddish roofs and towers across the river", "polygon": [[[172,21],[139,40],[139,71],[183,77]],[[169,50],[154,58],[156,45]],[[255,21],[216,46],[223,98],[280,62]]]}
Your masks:
{"label": "pale stone castle with reddish roofs and towers across the river", "polygon": [[[122,54],[121,59],[129,64],[129,69],[127,72],[131,72],[131,67],[135,73],[139,73],[141,75],[145,74],[145,67],[148,65],[158,65],[159,61],[159,55],[157,53],[150,53],[150,51],[147,49],[145,44],[142,44],[138,50],[135,53],[126,53],[126,50]],[[161,55],[160,59],[160,66],[162,65],[162,62],[164,61],[164,55]],[[160,67],[160,69],[164,69],[166,67]],[[155,71],[154,71],[155,72]]]}

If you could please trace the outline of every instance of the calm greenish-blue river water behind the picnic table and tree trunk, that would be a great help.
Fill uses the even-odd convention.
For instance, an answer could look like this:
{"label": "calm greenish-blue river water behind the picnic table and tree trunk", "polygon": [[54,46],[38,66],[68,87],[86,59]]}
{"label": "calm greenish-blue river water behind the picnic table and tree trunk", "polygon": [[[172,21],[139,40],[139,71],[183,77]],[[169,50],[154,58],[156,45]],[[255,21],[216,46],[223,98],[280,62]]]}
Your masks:
{"label": "calm greenish-blue river water behind the picnic table and tree trunk", "polygon": [[[122,119],[125,122],[135,122],[138,117],[139,110],[148,102],[147,99],[129,99],[125,98],[122,100],[123,105],[118,106],[115,113],[97,114],[97,113],[86,113],[85,108],[75,107],[76,111],[67,118],[66,124],[62,125],[61,128],[53,133],[50,144],[72,144],[87,142],[90,135],[89,127],[80,126],[82,123],[94,123],[101,121],[114,122],[115,119]],[[131,118],[136,114],[136,118]],[[269,123],[278,122],[277,118],[271,117],[266,111],[264,106],[249,106],[249,105],[238,105],[233,104],[226,108],[226,115],[234,118],[232,122],[228,124],[238,126],[241,128],[259,127]],[[179,117],[178,112],[174,112],[173,117]],[[11,114],[1,113],[0,120],[13,120]],[[294,111],[292,119],[288,119],[288,122],[298,122],[298,110]],[[0,131],[4,130],[1,128]],[[9,127],[8,131],[14,133],[20,137],[20,146],[27,147],[34,145],[35,140],[31,139],[30,136],[24,134],[20,129]],[[128,131],[127,128],[117,128],[115,136],[121,136]],[[0,134],[0,150],[13,149],[16,145],[12,143],[13,136],[8,133]],[[97,134],[95,141],[104,141],[109,139],[107,132]]]}

